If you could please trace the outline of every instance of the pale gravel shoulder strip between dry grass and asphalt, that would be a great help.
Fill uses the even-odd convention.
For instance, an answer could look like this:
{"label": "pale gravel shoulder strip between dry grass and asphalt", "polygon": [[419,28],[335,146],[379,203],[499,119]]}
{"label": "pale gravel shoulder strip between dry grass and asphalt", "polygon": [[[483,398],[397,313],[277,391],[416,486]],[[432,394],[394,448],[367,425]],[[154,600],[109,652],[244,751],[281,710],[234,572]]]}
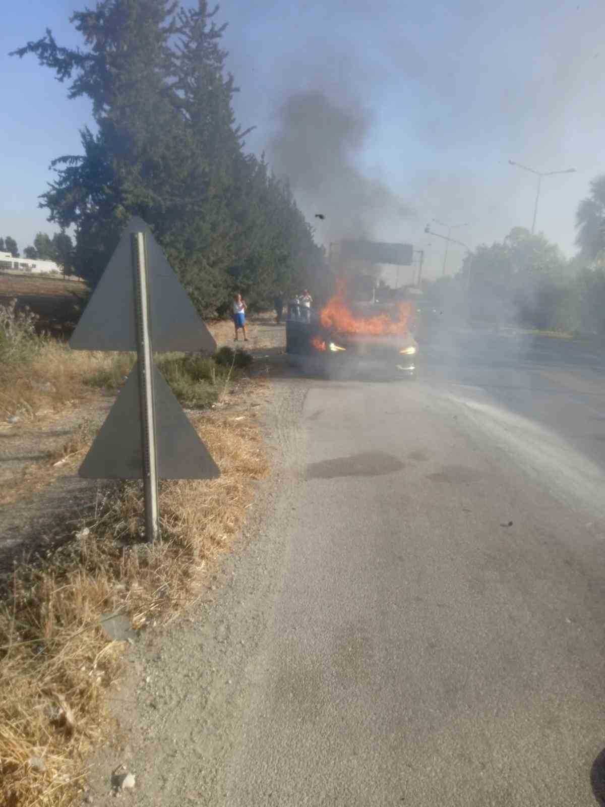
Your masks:
{"label": "pale gravel shoulder strip between dry grass and asphalt", "polygon": [[111,774],[136,775],[133,807],[226,803],[223,761],[255,691],[287,563],[285,537],[295,515],[299,416],[307,383],[273,384],[258,410],[273,461],[234,552],[210,575],[199,600],[173,625],[142,634],[127,654],[113,701],[120,741],[91,767],[90,801],[115,805]]}

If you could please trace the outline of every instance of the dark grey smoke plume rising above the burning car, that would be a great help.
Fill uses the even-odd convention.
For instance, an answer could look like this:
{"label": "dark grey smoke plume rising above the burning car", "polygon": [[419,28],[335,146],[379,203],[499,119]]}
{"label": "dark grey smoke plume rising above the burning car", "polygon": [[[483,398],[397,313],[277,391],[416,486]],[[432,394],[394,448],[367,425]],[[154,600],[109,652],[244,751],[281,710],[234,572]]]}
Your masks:
{"label": "dark grey smoke plume rising above the burning car", "polygon": [[368,111],[335,102],[319,89],[297,90],[277,109],[269,161],[288,178],[307,219],[325,215],[319,240],[377,237],[415,216],[393,189],[361,167],[361,151],[372,128]]}

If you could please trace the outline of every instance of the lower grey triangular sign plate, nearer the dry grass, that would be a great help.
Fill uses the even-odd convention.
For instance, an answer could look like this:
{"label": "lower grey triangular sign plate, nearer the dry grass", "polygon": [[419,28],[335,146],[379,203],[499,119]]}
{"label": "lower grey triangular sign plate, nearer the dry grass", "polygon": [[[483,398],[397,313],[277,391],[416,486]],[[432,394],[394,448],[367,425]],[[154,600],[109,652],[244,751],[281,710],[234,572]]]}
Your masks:
{"label": "lower grey triangular sign plate, nearer the dry grass", "polygon": [[[220,475],[161,373],[153,366],[157,475],[215,479]],[[135,365],[78,473],[87,479],[142,479],[139,367]]]}

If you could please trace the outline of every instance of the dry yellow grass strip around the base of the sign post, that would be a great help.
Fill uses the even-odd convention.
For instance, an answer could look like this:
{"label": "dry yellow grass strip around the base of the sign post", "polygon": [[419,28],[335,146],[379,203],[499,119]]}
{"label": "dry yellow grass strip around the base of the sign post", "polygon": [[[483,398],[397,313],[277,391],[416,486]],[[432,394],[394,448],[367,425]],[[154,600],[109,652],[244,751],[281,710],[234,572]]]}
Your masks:
{"label": "dry yellow grass strip around the base of the sign post", "polygon": [[109,488],[85,521],[65,518],[63,546],[2,583],[0,804],[79,803],[92,747],[114,728],[106,699],[124,643],[104,615],[143,628],[166,621],[198,591],[208,562],[230,546],[265,475],[252,420],[200,418],[219,479],[161,486],[163,541],[140,544],[140,485]]}

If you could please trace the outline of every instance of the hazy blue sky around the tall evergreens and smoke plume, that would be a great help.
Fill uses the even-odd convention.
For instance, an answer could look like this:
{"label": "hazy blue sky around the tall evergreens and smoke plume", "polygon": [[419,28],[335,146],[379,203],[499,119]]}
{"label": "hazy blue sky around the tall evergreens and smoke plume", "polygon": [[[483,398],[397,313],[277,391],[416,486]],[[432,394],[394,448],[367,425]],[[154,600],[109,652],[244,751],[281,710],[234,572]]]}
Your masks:
{"label": "hazy blue sky around the tall evergreens and smoke plume", "polygon": [[[52,158],[79,153],[78,128],[90,123],[90,107],[68,101],[66,86],[32,57],[6,54],[47,25],[60,44],[78,44],[68,20],[84,5],[29,0],[3,9],[0,91],[10,124],[2,173],[10,190],[0,200],[0,234],[15,236],[21,249],[37,230],[52,232],[36,197]],[[573,254],[578,202],[605,173],[602,2],[224,0],[218,19],[229,23],[224,43],[241,89],[236,113],[244,127],[256,127],[248,148],[273,159],[279,111],[293,94],[316,90],[360,115],[365,136],[345,149],[347,159],[413,210],[381,213],[373,236],[426,249],[429,276],[440,272],[444,249],[424,235],[433,218],[468,223],[456,232],[470,246],[531,226],[535,178],[509,159],[543,171],[576,169],[544,180],[536,225]],[[337,197],[325,185],[298,196],[307,214],[326,214],[318,237],[331,240],[330,222],[347,213],[334,207]],[[450,270],[460,259],[452,249]]]}

